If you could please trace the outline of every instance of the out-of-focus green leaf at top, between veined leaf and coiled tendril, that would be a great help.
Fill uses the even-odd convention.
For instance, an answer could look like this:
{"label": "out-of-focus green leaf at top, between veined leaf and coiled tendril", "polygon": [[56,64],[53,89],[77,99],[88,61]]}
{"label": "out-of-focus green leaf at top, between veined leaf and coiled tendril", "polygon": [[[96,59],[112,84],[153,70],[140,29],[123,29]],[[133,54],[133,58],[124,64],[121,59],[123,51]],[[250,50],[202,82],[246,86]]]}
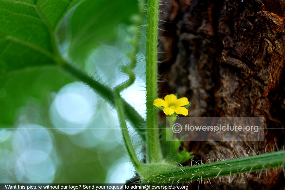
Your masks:
{"label": "out-of-focus green leaf at top, between veined leaf and coiled tendril", "polygon": [[96,47],[102,43],[114,43],[118,24],[129,24],[130,16],[137,12],[137,1],[133,0],[84,1],[71,18],[70,58],[84,64]]}

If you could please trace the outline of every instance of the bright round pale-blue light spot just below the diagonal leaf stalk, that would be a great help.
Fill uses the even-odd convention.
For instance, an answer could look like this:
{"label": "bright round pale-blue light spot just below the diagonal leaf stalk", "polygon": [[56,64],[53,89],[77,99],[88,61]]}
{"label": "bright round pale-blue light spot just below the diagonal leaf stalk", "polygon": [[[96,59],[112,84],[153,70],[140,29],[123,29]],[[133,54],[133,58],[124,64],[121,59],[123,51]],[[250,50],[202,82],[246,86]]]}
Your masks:
{"label": "bright round pale-blue light spot just below the diagonal leaf stalk", "polygon": [[51,121],[60,132],[77,134],[88,127],[95,116],[97,97],[80,82],[64,86],[50,107]]}

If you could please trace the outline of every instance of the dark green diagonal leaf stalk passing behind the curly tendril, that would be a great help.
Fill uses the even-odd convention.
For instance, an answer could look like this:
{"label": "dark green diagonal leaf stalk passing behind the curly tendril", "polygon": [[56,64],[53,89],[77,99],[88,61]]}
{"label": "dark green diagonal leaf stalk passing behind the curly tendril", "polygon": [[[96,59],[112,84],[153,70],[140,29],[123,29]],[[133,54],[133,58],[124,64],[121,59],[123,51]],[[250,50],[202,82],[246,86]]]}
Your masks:
{"label": "dark green diagonal leaf stalk passing behind the curly tendril", "polygon": [[[115,93],[113,92],[113,90],[111,90],[111,88],[99,83],[98,81],[95,81],[92,77],[89,77],[86,73],[68,64],[67,62],[62,61],[61,64],[59,65],[65,71],[72,74],[74,77],[78,78],[80,81],[86,83],[91,88],[93,88],[97,92],[97,94],[99,94],[104,100],[109,102],[112,106],[116,106]],[[127,119],[131,122],[135,130],[141,136],[142,140],[145,141],[146,136],[145,136],[144,119],[125,100],[122,100],[122,105],[127,115]]]}

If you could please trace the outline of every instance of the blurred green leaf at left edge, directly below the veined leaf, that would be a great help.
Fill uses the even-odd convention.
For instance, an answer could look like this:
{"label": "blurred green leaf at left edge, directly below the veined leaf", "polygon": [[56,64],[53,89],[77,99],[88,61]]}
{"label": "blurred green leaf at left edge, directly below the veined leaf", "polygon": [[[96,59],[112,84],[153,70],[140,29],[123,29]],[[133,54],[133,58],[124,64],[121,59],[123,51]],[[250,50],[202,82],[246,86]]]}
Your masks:
{"label": "blurred green leaf at left edge, directly below the veined leaf", "polygon": [[73,79],[55,67],[22,69],[0,75],[0,126],[12,125],[18,108],[25,106],[29,97],[46,105],[49,92],[58,91],[71,82]]}

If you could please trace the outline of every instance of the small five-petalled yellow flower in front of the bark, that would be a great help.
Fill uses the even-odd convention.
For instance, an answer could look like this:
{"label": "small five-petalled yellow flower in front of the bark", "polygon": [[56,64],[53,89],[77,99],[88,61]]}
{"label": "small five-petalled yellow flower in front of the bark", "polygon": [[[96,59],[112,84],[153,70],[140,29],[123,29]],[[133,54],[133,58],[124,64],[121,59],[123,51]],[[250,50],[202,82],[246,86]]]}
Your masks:
{"label": "small five-petalled yellow flower in front of the bark", "polygon": [[154,100],[153,105],[156,107],[164,107],[163,112],[166,115],[171,115],[174,112],[177,114],[188,115],[188,109],[186,109],[185,105],[188,105],[189,101],[187,98],[179,98],[177,99],[174,94],[169,94],[164,97],[164,100],[158,98]]}

